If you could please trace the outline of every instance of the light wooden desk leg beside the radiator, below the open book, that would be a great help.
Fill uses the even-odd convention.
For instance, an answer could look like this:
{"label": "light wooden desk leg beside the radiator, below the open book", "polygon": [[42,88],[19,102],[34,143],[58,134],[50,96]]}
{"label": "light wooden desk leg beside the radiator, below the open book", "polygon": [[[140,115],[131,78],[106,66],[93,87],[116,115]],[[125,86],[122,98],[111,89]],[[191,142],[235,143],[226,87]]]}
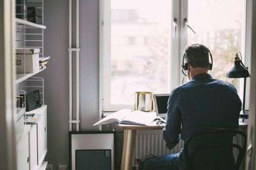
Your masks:
{"label": "light wooden desk leg beside the radiator, below the open book", "polygon": [[130,170],[136,139],[136,130],[124,130],[124,145],[121,170]]}

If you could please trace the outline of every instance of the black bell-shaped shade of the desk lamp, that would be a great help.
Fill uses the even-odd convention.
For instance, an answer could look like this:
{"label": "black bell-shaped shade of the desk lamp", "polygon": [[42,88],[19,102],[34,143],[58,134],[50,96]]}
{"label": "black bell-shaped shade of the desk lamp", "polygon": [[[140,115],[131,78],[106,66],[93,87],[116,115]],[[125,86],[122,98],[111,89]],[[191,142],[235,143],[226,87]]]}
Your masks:
{"label": "black bell-shaped shade of the desk lamp", "polygon": [[234,58],[234,65],[228,69],[226,76],[228,78],[244,78],[249,76],[249,71],[244,67],[243,62],[238,56]]}

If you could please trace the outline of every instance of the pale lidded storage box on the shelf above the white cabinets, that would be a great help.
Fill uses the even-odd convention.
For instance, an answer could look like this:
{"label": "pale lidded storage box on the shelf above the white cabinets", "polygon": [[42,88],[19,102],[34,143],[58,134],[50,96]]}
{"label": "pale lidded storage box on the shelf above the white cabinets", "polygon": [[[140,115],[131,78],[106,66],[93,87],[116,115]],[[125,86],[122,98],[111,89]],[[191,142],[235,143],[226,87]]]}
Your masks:
{"label": "pale lidded storage box on the shelf above the white cabinets", "polygon": [[[25,73],[37,73],[39,71],[39,53],[25,54]],[[16,73],[24,73],[24,54],[16,55]]]}

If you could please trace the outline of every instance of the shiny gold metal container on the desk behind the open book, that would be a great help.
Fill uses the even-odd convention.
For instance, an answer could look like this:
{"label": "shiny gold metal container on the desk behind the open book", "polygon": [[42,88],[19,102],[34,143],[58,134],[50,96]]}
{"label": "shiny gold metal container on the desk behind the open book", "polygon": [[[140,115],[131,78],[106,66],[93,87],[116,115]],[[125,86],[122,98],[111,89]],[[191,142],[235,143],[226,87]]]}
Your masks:
{"label": "shiny gold metal container on the desk behind the open book", "polygon": [[152,92],[135,92],[134,110],[147,111],[153,110]]}

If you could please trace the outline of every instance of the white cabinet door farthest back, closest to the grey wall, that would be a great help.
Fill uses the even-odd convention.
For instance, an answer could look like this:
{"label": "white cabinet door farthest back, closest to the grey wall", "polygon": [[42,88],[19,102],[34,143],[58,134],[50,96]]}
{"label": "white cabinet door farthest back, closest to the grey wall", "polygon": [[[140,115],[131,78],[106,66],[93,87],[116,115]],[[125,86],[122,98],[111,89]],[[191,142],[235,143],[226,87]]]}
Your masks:
{"label": "white cabinet door farthest back, closest to the grey wall", "polygon": [[46,110],[40,115],[40,120],[37,124],[37,152],[38,152],[38,166],[44,161],[47,152],[47,129],[46,129]]}

